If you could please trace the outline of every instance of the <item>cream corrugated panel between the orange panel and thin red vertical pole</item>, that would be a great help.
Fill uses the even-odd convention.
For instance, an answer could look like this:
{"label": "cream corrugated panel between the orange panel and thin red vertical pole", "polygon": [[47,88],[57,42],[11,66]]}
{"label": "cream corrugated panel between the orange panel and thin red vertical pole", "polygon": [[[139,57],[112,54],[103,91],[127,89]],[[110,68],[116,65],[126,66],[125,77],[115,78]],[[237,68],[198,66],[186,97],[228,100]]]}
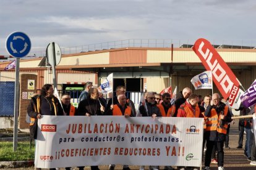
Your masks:
{"label": "cream corrugated panel between the orange panel and thin red vertical pole", "polygon": [[148,50],[147,63],[170,63],[171,51]]}

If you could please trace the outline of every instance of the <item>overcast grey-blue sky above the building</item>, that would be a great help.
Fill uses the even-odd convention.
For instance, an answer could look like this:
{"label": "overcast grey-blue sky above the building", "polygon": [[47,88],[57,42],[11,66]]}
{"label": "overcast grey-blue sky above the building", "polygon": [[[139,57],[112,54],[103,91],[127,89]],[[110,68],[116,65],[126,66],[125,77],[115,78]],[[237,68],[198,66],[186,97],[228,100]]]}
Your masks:
{"label": "overcast grey-blue sky above the building", "polygon": [[255,18],[255,0],[1,0],[0,55],[8,55],[6,38],[14,31],[30,37],[36,55],[53,41],[61,48],[124,39],[194,44],[198,38],[256,46]]}

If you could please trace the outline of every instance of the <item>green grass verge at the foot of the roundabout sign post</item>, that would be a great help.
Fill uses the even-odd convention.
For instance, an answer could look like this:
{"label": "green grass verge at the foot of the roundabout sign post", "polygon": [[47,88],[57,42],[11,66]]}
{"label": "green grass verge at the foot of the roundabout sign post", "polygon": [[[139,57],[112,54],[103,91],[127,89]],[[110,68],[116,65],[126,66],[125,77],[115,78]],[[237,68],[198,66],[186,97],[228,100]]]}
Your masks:
{"label": "green grass verge at the foot of the roundabout sign post", "polygon": [[0,142],[0,161],[28,161],[34,160],[35,145],[30,149],[29,142],[18,142],[18,147],[13,152],[12,142]]}

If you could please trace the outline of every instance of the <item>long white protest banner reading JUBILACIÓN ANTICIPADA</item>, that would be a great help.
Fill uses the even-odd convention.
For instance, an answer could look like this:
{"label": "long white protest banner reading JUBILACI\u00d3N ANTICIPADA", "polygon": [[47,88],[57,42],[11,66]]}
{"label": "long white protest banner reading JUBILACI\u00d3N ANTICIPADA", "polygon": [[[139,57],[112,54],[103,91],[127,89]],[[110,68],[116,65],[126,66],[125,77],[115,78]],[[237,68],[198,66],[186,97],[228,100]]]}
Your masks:
{"label": "long white protest banner reading JUBILACI\u00d3N ANTICIPADA", "polygon": [[203,118],[43,116],[36,168],[106,164],[200,166]]}

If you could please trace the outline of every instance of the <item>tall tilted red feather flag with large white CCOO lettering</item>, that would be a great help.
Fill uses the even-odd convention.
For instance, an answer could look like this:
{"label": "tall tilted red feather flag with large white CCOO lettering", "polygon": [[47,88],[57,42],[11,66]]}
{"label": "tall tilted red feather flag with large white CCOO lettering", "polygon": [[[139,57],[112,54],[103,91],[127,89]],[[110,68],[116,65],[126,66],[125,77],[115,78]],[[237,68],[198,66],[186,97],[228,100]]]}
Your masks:
{"label": "tall tilted red feather flag with large white CCOO lettering", "polygon": [[202,61],[206,70],[212,71],[213,81],[224,99],[229,97],[230,107],[239,108],[241,103],[240,97],[244,91],[239,88],[239,81],[220,54],[211,46],[207,39],[203,38],[195,41],[193,50]]}

